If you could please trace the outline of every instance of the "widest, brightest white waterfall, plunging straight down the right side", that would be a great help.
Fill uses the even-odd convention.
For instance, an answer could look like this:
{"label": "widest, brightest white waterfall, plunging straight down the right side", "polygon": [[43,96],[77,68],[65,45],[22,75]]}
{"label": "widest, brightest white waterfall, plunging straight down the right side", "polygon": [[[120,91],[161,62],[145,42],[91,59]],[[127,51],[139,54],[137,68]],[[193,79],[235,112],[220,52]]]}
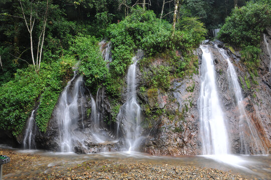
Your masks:
{"label": "widest, brightest white waterfall, plunging straight down the right side", "polygon": [[214,59],[208,45],[202,49],[200,123],[203,154],[228,154],[229,143],[223,112],[220,107]]}

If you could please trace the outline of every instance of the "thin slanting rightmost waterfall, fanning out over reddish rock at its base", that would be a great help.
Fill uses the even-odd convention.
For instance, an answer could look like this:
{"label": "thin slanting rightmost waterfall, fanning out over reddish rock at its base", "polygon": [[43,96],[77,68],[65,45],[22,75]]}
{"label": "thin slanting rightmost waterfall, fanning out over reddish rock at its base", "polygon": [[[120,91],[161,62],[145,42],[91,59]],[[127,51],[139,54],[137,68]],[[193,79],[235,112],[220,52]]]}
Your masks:
{"label": "thin slanting rightmost waterfall, fanning out over reddish rock at its base", "polygon": [[[240,136],[240,143],[241,143],[241,153],[249,154],[252,151],[253,154],[267,154],[267,149],[265,149],[262,140],[258,134],[257,128],[255,124],[246,114],[245,107],[244,107],[244,100],[242,96],[241,87],[239,85],[238,77],[236,71],[229,60],[229,56],[227,52],[223,48],[218,48],[219,52],[223,56],[223,58],[228,63],[227,75],[230,87],[232,91],[234,91],[236,105],[239,111],[239,136]],[[251,149],[250,149],[251,147]]]}

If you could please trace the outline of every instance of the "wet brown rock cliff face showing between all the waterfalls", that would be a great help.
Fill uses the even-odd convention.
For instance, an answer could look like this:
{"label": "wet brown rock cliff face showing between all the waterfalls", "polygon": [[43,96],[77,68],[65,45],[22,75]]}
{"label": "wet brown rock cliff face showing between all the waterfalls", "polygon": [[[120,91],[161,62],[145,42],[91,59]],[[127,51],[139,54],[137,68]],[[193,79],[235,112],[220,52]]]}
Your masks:
{"label": "wet brown rock cliff face showing between all the waterfalls", "polygon": [[[266,30],[269,39],[270,30]],[[267,55],[266,46],[261,42],[263,54],[260,56],[261,64],[258,68],[258,76],[248,73],[245,66],[240,60],[238,52],[230,51],[221,42],[215,42],[219,47],[227,50],[230,61],[234,64],[234,68],[239,78],[240,86],[242,87],[243,104],[248,116],[255,124],[261,140],[264,145],[271,147],[271,73],[268,71],[269,56]],[[229,86],[227,77],[227,61],[219,53],[218,49],[212,42],[209,42],[210,50],[214,57],[216,68],[217,87],[221,99],[221,105],[227,119],[227,129],[230,135],[231,151],[233,153],[240,153],[240,137],[238,129],[238,107],[235,103],[234,91]],[[105,47],[104,47],[105,48]],[[103,50],[103,48],[101,49]],[[108,52],[107,52],[108,53]],[[163,58],[156,58],[150,64],[145,64],[137,67],[137,89],[138,101],[142,107],[142,131],[146,136],[141,144],[140,151],[147,152],[153,155],[195,155],[201,154],[201,138],[199,125],[199,92],[200,92],[200,64],[202,52],[197,49],[196,54],[199,62],[199,69],[197,73],[192,75],[184,74],[183,78],[171,78],[170,86],[166,90],[162,87],[156,89],[147,88],[146,73],[150,72],[152,75],[151,66],[159,65],[170,66]],[[177,55],[179,55],[177,53]],[[182,57],[180,56],[180,60]],[[92,106],[90,95],[87,90],[81,98],[84,98],[85,110]],[[101,99],[100,96],[103,96]],[[119,104],[126,99],[126,87],[123,87],[121,99]],[[97,96],[97,101],[102,101],[100,109],[102,109],[103,119],[110,119],[115,116],[114,105],[112,99],[108,100],[108,96],[104,91]],[[81,108],[81,107],[78,107]],[[57,119],[53,112],[52,118],[48,124],[46,133],[39,133],[36,137],[38,147],[50,150],[59,150],[57,138],[59,136]],[[119,150],[123,145],[123,141],[104,141],[96,143],[91,136],[93,131],[93,119],[85,112],[85,116],[78,119],[81,123],[83,118],[83,126],[87,130],[89,137],[85,139],[84,146],[75,146],[75,151],[78,153],[99,152],[101,149],[107,151]],[[105,133],[113,138],[115,133],[115,126],[111,127],[102,122],[102,127]],[[80,126],[83,129],[82,126]],[[123,135],[123,134],[122,134]]]}

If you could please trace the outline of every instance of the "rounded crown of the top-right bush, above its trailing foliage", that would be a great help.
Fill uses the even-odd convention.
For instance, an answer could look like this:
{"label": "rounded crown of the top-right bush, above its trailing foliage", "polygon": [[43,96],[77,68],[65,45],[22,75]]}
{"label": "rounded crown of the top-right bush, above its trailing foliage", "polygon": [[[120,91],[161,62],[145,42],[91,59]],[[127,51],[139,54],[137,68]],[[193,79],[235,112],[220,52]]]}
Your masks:
{"label": "rounded crown of the top-right bush, above its trailing foliage", "polygon": [[271,24],[271,5],[249,1],[245,6],[234,8],[219,31],[218,38],[242,47],[258,45],[260,34]]}

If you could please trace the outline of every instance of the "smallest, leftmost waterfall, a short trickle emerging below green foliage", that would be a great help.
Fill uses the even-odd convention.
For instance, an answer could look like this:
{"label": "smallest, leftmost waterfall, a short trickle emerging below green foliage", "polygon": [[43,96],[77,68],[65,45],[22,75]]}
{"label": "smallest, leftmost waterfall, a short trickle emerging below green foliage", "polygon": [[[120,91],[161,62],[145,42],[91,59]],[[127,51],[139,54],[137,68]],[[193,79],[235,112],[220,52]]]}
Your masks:
{"label": "smallest, leftmost waterfall, a short trickle emerging below green foliage", "polygon": [[36,123],[35,123],[35,111],[38,109],[38,107],[34,110],[32,110],[31,116],[28,119],[25,136],[23,139],[24,149],[35,149],[36,143],[35,143],[35,135],[36,135]]}

